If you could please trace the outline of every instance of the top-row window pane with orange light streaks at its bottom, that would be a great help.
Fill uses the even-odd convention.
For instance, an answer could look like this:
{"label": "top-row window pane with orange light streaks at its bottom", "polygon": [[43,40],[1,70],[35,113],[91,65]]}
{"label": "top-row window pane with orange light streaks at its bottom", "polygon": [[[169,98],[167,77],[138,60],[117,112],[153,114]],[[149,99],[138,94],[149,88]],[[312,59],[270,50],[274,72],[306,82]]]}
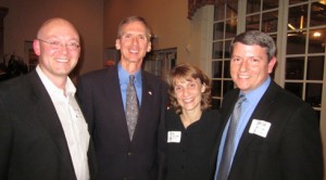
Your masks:
{"label": "top-row window pane with orange light streaks at its bottom", "polygon": [[288,29],[302,30],[306,27],[308,5],[298,5],[289,9]]}

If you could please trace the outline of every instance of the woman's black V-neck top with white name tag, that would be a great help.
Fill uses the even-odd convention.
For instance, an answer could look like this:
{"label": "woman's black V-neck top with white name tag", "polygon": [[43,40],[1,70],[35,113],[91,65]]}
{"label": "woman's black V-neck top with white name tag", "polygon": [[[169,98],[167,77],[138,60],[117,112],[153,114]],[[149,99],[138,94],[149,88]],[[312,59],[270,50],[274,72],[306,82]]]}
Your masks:
{"label": "woman's black V-neck top with white name tag", "polygon": [[185,129],[174,110],[166,113],[167,176],[166,180],[210,180],[214,145],[221,124],[217,110],[206,110],[198,121]]}

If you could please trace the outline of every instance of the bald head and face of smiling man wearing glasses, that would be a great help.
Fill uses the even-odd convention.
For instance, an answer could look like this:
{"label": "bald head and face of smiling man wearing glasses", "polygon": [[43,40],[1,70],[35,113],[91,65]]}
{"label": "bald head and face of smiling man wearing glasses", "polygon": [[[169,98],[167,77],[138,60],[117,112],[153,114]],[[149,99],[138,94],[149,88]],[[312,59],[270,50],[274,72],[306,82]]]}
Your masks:
{"label": "bald head and face of smiling man wearing glasses", "polygon": [[38,38],[34,50],[42,72],[50,78],[67,76],[80,54],[77,31],[65,22],[52,22],[42,28]]}

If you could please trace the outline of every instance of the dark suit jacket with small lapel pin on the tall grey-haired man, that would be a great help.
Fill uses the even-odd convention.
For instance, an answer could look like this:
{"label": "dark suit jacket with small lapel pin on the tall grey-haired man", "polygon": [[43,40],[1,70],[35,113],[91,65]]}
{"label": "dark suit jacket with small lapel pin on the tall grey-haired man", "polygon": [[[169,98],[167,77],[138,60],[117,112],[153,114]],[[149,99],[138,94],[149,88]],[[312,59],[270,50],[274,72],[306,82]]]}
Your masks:
{"label": "dark suit jacket with small lapel pin on the tall grey-haired man", "polygon": [[141,78],[142,100],[131,142],[117,66],[84,75],[78,81],[77,95],[92,128],[99,179],[154,180],[161,177],[166,142],[163,121],[166,85],[146,72],[141,72]]}

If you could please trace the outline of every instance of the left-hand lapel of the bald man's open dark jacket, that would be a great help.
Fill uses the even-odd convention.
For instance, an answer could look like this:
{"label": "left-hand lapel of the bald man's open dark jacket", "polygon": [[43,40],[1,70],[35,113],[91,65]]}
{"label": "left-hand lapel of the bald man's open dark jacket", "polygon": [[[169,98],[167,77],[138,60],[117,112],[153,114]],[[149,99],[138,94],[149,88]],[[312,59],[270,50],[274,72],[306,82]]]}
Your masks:
{"label": "left-hand lapel of the bald man's open dark jacket", "polygon": [[35,104],[35,108],[33,108],[35,112],[33,113],[45,128],[45,133],[48,133],[53,141],[54,146],[62,156],[61,160],[65,162],[67,168],[75,175],[67,142],[55,107],[37,73],[33,72],[30,74],[30,99]]}

